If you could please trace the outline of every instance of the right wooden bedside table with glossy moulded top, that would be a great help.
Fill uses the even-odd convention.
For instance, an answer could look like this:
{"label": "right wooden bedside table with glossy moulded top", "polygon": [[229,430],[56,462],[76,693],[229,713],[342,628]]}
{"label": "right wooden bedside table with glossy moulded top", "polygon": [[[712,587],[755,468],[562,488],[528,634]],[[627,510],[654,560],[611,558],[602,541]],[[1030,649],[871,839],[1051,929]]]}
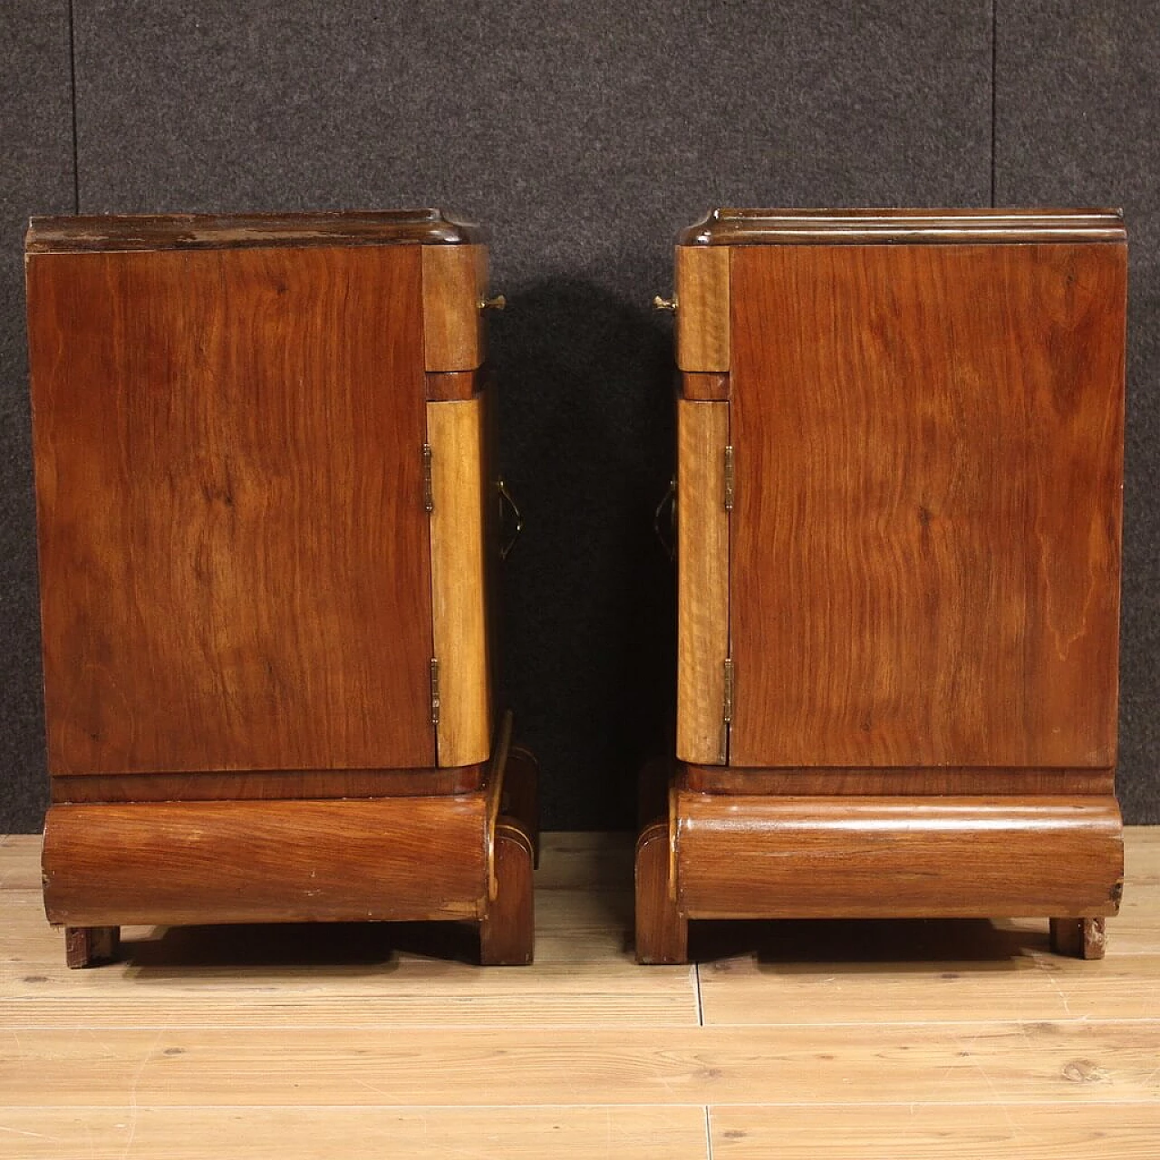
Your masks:
{"label": "right wooden bedside table with glossy moulded top", "polygon": [[719,210],[675,277],[677,766],[638,958],[697,918],[1036,914],[1101,956],[1119,215]]}

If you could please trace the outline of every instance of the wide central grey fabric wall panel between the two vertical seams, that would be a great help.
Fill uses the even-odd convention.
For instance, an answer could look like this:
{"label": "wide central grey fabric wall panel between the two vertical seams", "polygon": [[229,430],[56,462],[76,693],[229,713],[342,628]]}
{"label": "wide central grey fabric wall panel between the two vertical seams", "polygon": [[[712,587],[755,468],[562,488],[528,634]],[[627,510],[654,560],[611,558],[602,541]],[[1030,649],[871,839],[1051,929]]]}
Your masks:
{"label": "wide central grey fabric wall panel between the two vertical seams", "polygon": [[545,822],[629,826],[673,703],[672,238],[715,203],[985,204],[989,2],[77,0],[81,208],[487,225],[527,530],[505,672]]}

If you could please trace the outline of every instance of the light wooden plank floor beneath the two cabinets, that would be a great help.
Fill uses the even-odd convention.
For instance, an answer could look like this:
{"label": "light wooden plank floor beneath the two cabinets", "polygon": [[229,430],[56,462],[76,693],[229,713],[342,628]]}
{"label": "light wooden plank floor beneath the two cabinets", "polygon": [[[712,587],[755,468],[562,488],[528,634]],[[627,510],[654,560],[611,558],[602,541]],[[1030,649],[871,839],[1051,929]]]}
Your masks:
{"label": "light wooden plank floor beneath the two cabinets", "polygon": [[1108,958],[1043,920],[704,923],[638,967],[631,843],[549,834],[534,967],[457,927],[129,928],[67,971],[0,839],[0,1157],[1160,1157],[1160,828]]}

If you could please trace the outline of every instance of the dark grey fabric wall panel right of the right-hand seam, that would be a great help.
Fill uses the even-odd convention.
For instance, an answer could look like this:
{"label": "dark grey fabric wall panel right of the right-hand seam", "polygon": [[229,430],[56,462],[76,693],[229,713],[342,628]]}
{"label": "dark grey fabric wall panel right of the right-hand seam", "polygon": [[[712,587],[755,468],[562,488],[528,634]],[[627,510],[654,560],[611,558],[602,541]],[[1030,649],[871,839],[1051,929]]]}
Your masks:
{"label": "dark grey fabric wall panel right of the right-hand seam", "polygon": [[1160,14],[1001,0],[995,198],[1122,205],[1130,254],[1119,795],[1160,821]]}

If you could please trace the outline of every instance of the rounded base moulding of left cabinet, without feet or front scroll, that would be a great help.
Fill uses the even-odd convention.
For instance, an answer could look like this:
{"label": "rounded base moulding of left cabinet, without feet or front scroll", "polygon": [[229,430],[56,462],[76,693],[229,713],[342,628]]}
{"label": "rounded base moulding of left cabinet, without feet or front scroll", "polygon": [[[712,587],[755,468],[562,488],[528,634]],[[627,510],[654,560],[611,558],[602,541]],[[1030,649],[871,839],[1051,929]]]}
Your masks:
{"label": "rounded base moulding of left cabinet, without feet or front scroll", "polygon": [[68,926],[477,918],[484,796],[57,805],[44,904]]}

